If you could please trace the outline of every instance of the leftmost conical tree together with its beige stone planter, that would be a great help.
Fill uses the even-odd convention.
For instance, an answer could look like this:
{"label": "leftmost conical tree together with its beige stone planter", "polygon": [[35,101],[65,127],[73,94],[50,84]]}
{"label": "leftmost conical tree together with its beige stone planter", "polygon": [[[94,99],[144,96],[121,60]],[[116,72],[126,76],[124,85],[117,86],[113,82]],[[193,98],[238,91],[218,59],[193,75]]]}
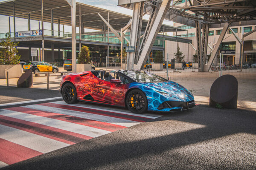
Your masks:
{"label": "leftmost conical tree together with its beige stone planter", "polygon": [[11,42],[11,35],[6,34],[6,40],[0,42],[0,78],[6,78],[6,72],[9,72],[9,78],[21,76],[20,55],[17,55],[17,45],[19,42]]}

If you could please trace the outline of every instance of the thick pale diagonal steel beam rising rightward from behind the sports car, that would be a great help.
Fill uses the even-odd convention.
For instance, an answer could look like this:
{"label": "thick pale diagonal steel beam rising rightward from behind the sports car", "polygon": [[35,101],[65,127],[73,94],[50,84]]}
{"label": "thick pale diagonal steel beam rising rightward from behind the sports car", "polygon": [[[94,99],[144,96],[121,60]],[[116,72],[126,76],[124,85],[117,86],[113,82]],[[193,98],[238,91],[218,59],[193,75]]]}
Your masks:
{"label": "thick pale diagonal steel beam rising rightward from behind the sports car", "polygon": [[151,48],[156,40],[157,34],[162,26],[163,20],[166,16],[166,13],[170,6],[171,1],[172,0],[163,0],[163,2],[161,3],[161,6],[159,8],[159,11],[156,14],[151,30],[148,33],[148,38],[145,41],[145,45],[144,45],[144,48],[142,49],[140,59],[137,63],[136,69],[142,69],[143,65],[146,63],[147,56],[149,55]]}

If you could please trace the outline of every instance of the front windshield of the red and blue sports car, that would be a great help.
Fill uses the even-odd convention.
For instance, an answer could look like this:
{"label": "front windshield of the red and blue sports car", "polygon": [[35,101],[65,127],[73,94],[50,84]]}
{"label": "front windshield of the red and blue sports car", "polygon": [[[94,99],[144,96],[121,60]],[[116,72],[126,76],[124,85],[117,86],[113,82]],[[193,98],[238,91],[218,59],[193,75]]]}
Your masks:
{"label": "front windshield of the red and blue sports car", "polygon": [[125,70],[122,71],[123,74],[127,75],[131,79],[133,79],[135,82],[166,82],[167,79],[164,79],[163,77],[157,76],[155,74],[149,73],[147,71],[142,70]]}

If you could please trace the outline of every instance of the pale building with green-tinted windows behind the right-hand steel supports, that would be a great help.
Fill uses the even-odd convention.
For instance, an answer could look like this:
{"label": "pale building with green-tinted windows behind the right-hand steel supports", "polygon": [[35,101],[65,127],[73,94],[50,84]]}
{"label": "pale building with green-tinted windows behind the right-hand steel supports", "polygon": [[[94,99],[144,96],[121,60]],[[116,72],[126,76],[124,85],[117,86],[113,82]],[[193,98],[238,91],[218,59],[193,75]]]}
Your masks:
{"label": "pale building with green-tinted windows behind the right-hand steel supports", "polygon": [[[188,0],[187,0],[188,2]],[[186,0],[175,0],[176,6],[183,7],[186,4]],[[186,11],[189,14],[195,14],[192,11]],[[192,40],[192,45],[196,48],[196,28],[191,26],[182,25],[180,23],[174,23],[174,26],[177,28],[185,29],[186,31],[179,31],[174,32],[175,37],[181,37],[186,38],[188,37],[189,40]],[[246,26],[231,26],[230,28],[233,29],[233,31],[236,33],[238,37],[242,37],[243,34],[246,34],[247,32],[250,32],[256,28],[256,22],[254,22],[253,25],[246,25]],[[217,42],[222,27],[219,28],[209,28],[209,37],[208,37],[208,45],[212,48],[213,45]],[[182,49],[183,53],[186,52],[186,49]],[[189,54],[188,54],[188,61],[192,60],[193,55],[195,54],[195,50],[190,47],[189,48]],[[219,52],[217,54],[217,57],[219,57],[219,54],[221,51],[224,51],[224,60],[228,65],[234,65],[239,64],[239,58],[241,53],[241,47],[239,41],[236,39],[236,37],[231,33],[230,30],[227,31],[225,34]],[[207,49],[207,55],[210,55],[212,50],[210,48]],[[243,53],[243,63],[255,63],[256,62],[256,32],[253,32],[249,36],[244,38],[244,53]]]}

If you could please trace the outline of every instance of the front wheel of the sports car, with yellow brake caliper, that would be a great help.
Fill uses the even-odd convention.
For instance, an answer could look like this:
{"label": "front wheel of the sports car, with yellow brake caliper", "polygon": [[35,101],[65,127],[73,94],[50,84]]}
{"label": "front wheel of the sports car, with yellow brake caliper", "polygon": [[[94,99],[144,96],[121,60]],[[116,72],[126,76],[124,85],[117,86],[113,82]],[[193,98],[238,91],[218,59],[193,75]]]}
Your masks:
{"label": "front wheel of the sports car, with yellow brake caliper", "polygon": [[148,110],[148,100],[144,92],[134,89],[126,96],[126,107],[133,113],[142,114]]}

